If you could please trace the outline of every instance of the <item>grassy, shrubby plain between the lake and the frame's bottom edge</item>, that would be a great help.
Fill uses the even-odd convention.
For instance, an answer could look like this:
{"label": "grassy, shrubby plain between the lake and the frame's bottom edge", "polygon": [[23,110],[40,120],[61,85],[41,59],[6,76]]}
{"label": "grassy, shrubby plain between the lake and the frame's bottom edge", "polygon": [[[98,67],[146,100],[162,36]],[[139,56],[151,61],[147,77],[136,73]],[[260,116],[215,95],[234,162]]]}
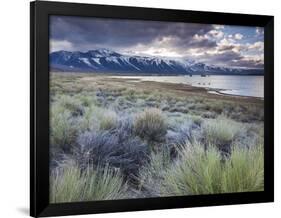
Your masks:
{"label": "grassy, shrubby plain between the lake and the frame's bottom edge", "polygon": [[263,190],[263,101],[52,73],[51,202]]}

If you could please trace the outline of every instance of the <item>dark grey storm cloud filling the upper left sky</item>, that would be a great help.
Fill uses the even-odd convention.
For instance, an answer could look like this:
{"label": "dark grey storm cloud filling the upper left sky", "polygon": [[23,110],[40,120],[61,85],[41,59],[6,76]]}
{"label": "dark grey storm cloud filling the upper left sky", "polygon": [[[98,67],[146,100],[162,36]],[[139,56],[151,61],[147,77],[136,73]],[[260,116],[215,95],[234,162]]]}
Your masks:
{"label": "dark grey storm cloud filling the upper left sky", "polygon": [[52,16],[50,35],[53,40],[67,40],[77,47],[79,44],[129,47],[164,37],[173,37],[174,46],[210,47],[216,43],[208,39],[195,41],[192,37],[211,29],[212,25],[205,24]]}

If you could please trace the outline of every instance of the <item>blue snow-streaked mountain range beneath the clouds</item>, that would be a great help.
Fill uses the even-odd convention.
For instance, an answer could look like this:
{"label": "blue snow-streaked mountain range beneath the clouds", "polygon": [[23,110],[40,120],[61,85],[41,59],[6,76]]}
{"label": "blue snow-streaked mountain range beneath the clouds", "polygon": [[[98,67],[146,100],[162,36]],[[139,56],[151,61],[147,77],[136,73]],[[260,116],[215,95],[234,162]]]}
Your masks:
{"label": "blue snow-streaked mountain range beneath the clouds", "polygon": [[262,69],[227,68],[193,60],[129,56],[108,50],[57,51],[50,54],[53,71],[142,74],[263,74]]}

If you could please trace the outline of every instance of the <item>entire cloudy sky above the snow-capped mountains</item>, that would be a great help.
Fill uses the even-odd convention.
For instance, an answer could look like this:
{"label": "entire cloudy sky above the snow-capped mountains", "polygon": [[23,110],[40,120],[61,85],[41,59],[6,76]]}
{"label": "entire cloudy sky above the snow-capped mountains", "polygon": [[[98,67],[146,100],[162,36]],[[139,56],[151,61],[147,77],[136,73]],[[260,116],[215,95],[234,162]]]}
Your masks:
{"label": "entire cloudy sky above the snow-capped mountains", "polygon": [[264,67],[261,27],[51,16],[50,52],[99,48],[216,66]]}

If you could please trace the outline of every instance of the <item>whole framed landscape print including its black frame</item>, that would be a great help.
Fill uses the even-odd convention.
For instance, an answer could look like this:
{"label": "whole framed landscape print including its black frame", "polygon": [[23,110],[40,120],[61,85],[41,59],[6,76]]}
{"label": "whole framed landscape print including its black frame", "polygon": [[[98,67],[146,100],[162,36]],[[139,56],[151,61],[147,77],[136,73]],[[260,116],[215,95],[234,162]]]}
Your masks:
{"label": "whole framed landscape print including its black frame", "polygon": [[273,201],[273,17],[31,2],[30,215]]}

